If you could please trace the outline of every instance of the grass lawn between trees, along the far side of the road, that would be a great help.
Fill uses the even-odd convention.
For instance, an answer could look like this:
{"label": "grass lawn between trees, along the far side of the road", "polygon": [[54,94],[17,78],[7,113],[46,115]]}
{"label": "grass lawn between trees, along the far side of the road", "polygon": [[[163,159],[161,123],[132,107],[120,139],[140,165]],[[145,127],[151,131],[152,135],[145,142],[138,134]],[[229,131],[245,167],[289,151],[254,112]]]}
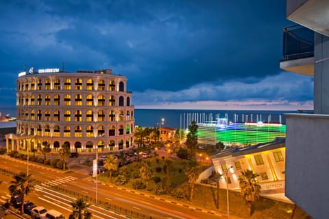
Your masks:
{"label": "grass lawn between trees, along the far side of the road", "polygon": [[[154,171],[154,176],[164,177],[163,165],[164,161],[161,157],[151,158],[151,168]],[[211,211],[219,211],[220,214],[226,215],[227,212],[227,203],[226,203],[226,189],[219,189],[219,209],[217,209],[217,188],[211,187],[207,185],[195,185],[193,198],[190,200],[189,198],[189,185],[188,185],[188,177],[184,173],[186,166],[188,165],[187,161],[181,161],[172,159],[173,168],[171,169],[171,189],[175,189],[177,187],[183,187],[186,189],[186,198],[182,198],[179,200],[181,203],[186,205],[195,205],[196,207],[202,207],[205,209],[209,209]],[[127,173],[130,176],[130,181],[123,185],[123,187],[129,187],[132,189],[132,181],[134,179],[133,176],[138,176],[139,167],[141,162],[134,162],[126,165]],[[162,170],[160,172],[156,171],[156,168],[160,167]],[[202,164],[199,165],[199,168],[204,170],[208,168],[207,165]],[[99,180],[104,181],[106,183],[110,183],[108,174],[103,174],[99,176]],[[115,176],[113,176],[112,181],[115,181]],[[148,189],[141,189],[141,192],[149,192],[152,195],[154,194],[154,181],[149,181]],[[173,196],[164,194],[161,195],[163,198],[171,198]],[[256,200],[256,203],[253,205],[252,216],[249,216],[248,209],[245,201],[243,200],[240,192],[229,192],[230,197],[230,214],[234,216],[240,216],[241,218],[253,218],[253,219],[290,219],[291,212],[293,210],[293,205],[289,203],[282,203],[276,200],[271,200],[268,198],[259,198]],[[177,202],[178,200],[175,200]],[[295,210],[295,219],[310,219],[304,211],[299,209]]]}

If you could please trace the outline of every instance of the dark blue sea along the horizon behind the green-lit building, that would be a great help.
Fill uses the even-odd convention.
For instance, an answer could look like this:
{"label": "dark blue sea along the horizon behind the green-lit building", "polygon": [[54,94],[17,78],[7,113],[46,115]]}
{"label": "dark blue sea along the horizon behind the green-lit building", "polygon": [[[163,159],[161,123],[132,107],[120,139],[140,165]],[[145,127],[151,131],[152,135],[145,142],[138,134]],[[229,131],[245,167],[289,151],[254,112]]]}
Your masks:
{"label": "dark blue sea along the horizon behind the green-lit building", "polygon": [[[15,107],[1,107],[3,116],[16,117]],[[191,121],[209,122],[227,118],[231,122],[271,122],[285,124],[285,113],[297,111],[243,111],[243,110],[178,110],[178,109],[140,109],[135,108],[135,126],[187,128]],[[163,122],[162,122],[163,119]]]}

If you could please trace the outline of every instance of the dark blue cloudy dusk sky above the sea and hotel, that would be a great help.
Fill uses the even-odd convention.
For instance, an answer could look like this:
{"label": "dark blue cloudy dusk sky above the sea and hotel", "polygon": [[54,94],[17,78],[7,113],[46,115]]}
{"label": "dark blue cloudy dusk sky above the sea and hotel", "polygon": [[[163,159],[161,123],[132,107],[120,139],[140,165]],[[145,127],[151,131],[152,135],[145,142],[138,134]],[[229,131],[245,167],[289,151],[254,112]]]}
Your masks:
{"label": "dark blue cloudy dusk sky above the sea and hotel", "polygon": [[112,69],[135,108],[313,108],[313,78],[279,68],[286,0],[0,1],[1,106],[18,73]]}

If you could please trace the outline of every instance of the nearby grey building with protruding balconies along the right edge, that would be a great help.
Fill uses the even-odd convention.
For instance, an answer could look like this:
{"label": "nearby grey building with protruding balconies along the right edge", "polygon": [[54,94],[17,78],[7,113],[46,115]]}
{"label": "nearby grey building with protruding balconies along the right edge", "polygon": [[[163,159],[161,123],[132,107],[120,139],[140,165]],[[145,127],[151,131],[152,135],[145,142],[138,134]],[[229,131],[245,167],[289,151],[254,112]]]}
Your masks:
{"label": "nearby grey building with protruding balconies along the right edge", "polygon": [[[288,52],[280,61],[284,70],[314,77],[314,114],[285,115],[285,193],[313,218],[328,218],[329,1],[287,0],[287,19],[314,32],[310,42],[304,41],[302,32],[295,34],[285,28],[284,34],[291,33],[291,37],[284,38],[284,51],[287,47]],[[291,45],[295,49],[289,49]]]}

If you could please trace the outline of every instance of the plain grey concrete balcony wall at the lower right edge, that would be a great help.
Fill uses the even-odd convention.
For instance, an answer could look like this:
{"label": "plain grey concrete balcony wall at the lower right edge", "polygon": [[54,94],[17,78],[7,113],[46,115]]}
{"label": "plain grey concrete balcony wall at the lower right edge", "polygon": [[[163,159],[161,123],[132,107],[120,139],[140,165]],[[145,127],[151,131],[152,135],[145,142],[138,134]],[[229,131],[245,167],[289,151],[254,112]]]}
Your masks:
{"label": "plain grey concrete balcony wall at the lower right edge", "polygon": [[285,194],[313,218],[328,218],[329,115],[285,117]]}

